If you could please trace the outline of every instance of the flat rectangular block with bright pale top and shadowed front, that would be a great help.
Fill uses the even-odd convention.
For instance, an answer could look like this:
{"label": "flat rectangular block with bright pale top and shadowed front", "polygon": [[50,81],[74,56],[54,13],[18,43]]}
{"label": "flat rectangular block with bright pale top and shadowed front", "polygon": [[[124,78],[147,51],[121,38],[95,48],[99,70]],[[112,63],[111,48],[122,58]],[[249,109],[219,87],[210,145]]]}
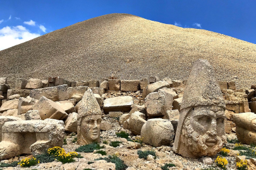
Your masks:
{"label": "flat rectangular block with bright pale top and shadowed front", "polygon": [[133,98],[131,96],[120,96],[115,98],[107,98],[104,100],[104,113],[109,111],[130,111],[133,105]]}

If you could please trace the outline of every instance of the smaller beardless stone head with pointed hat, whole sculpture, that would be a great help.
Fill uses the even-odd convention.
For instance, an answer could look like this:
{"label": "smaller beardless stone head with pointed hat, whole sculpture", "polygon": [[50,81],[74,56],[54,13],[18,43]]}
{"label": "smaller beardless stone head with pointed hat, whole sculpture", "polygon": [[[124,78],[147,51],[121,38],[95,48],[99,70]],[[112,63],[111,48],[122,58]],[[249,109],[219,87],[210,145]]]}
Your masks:
{"label": "smaller beardless stone head with pointed hat, whole sculpture", "polygon": [[91,89],[88,89],[78,108],[77,142],[80,145],[99,142],[101,132],[101,108]]}

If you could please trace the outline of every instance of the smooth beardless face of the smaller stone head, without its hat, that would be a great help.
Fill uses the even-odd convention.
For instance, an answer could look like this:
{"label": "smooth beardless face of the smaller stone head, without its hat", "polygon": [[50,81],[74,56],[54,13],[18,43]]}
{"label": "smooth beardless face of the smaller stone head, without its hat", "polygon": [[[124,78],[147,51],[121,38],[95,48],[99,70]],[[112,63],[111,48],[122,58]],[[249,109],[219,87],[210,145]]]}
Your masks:
{"label": "smooth beardless face of the smaller stone head, without its hat", "polygon": [[79,144],[99,142],[101,132],[101,115],[83,117],[79,131]]}

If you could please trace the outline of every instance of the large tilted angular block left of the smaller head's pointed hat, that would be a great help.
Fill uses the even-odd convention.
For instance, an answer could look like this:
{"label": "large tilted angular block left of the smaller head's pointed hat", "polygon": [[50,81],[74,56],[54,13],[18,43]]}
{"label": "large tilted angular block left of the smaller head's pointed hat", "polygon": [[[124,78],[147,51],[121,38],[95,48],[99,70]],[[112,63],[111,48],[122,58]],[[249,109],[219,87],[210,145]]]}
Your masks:
{"label": "large tilted angular block left of the smaller head's pointed hat", "polygon": [[39,101],[35,104],[34,110],[38,110],[42,120],[46,118],[52,118],[57,120],[63,120],[68,116],[68,114],[59,106],[54,103],[51,99],[47,99],[42,96]]}

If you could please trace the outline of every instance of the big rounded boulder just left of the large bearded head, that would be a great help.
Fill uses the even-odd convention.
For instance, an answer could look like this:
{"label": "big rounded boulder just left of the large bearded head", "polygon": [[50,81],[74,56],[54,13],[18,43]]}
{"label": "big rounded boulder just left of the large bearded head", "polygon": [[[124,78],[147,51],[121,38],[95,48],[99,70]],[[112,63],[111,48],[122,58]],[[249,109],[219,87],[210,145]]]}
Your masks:
{"label": "big rounded boulder just left of the large bearded head", "polygon": [[173,125],[170,120],[153,118],[147,121],[142,127],[141,137],[145,144],[154,147],[170,145],[174,139]]}

